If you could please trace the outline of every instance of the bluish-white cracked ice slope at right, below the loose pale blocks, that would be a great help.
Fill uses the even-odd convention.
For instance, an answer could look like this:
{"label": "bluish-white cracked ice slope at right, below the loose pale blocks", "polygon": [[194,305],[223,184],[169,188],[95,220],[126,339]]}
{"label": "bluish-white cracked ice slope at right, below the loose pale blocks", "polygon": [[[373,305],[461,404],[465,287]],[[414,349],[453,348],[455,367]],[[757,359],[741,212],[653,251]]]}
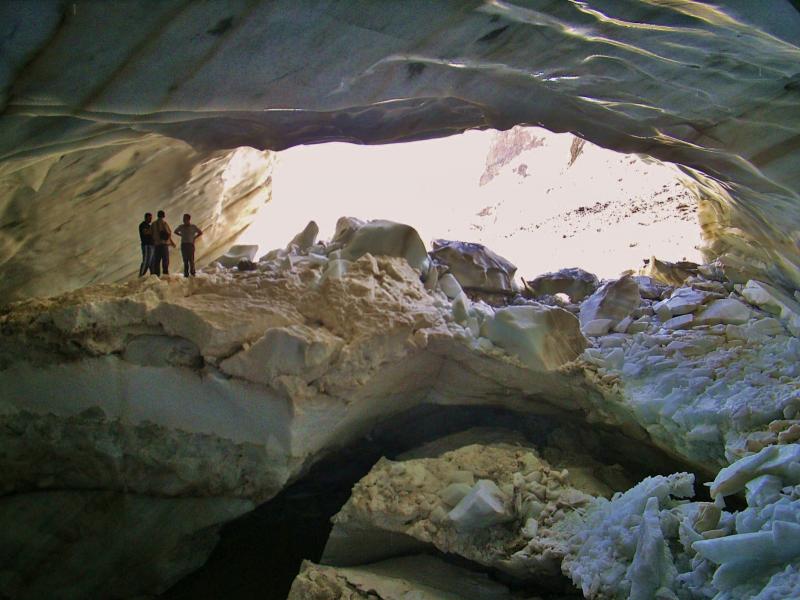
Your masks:
{"label": "bluish-white cracked ice slope at right, below the loose pale blocks", "polygon": [[584,358],[598,367],[609,410],[621,402],[693,464],[724,466],[769,423],[796,419],[800,340],[767,315],[686,331],[656,321],[599,341]]}

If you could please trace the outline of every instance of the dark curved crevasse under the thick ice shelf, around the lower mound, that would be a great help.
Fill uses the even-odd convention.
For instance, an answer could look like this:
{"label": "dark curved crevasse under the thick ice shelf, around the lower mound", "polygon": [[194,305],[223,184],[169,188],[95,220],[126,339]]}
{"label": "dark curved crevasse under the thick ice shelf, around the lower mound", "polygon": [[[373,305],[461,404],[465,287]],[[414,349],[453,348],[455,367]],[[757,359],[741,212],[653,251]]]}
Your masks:
{"label": "dark curved crevasse under the thick ice shelf, around the lower mound", "polygon": [[[226,598],[231,600],[286,598],[304,559],[318,562],[331,530],[330,519],[344,505],[350,490],[383,456],[398,455],[443,436],[472,427],[505,429],[522,434],[538,448],[548,445],[552,432],[569,427],[582,444],[606,464],[621,464],[634,479],[685,470],[683,465],[640,448],[618,432],[563,418],[526,415],[492,407],[424,405],[392,417],[349,445],[314,465],[301,479],[256,510],[226,524],[220,542],[206,564],[162,594],[165,600]],[[631,462],[631,457],[637,462]],[[459,559],[442,556],[460,566],[484,570]],[[511,587],[526,591],[525,582],[514,582],[490,572]],[[535,591],[561,597],[569,594],[568,582],[544,584]],[[580,597],[580,596],[578,596]]]}

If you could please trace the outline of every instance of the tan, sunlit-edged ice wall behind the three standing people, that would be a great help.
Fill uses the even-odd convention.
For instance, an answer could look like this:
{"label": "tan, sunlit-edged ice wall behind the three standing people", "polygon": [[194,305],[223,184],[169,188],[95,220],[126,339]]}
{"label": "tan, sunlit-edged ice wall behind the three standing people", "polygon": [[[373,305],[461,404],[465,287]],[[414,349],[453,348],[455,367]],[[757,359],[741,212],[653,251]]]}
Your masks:
{"label": "tan, sunlit-edged ice wall behind the three standing people", "polygon": [[[217,258],[270,200],[274,156],[144,135],[4,162],[0,304],[134,276],[145,212],[164,210],[173,229],[190,213],[203,230],[197,260]],[[180,260],[174,249],[173,271]]]}

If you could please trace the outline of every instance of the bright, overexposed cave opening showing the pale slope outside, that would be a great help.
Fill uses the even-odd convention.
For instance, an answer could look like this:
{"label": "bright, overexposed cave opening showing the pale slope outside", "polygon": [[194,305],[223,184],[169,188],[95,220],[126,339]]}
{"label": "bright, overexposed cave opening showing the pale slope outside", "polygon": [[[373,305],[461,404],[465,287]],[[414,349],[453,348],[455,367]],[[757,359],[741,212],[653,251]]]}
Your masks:
{"label": "bright, overexposed cave opening showing the pale slope outside", "polygon": [[272,199],[237,243],[264,254],[311,219],[331,239],[341,216],[477,242],[528,277],[566,267],[616,277],[651,256],[703,262],[697,198],[674,165],[540,127],[281,151]]}

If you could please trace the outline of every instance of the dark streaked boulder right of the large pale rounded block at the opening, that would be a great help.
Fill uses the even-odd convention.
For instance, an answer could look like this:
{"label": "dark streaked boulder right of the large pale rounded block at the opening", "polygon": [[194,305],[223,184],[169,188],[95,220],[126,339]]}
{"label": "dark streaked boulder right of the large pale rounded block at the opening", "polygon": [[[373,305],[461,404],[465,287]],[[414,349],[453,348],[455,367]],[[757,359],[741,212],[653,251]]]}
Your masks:
{"label": "dark streaked boulder right of the large pale rounded block at the opening", "polygon": [[515,291],[517,267],[482,244],[434,240],[431,258],[446,265],[465,289],[502,294]]}

